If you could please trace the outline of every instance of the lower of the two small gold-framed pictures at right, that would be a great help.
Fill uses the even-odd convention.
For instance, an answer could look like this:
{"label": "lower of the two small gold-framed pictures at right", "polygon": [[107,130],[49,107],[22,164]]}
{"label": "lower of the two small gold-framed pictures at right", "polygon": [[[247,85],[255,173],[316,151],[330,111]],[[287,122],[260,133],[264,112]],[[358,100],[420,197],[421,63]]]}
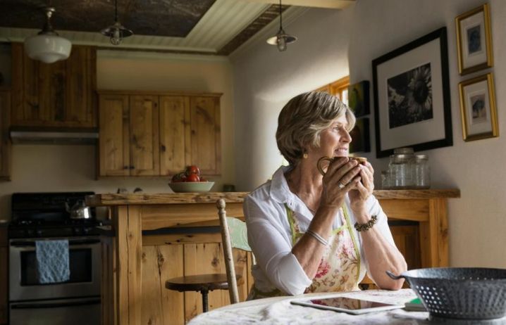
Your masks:
{"label": "lower of the two small gold-framed pictures at right", "polygon": [[492,73],[459,83],[464,141],[499,136]]}

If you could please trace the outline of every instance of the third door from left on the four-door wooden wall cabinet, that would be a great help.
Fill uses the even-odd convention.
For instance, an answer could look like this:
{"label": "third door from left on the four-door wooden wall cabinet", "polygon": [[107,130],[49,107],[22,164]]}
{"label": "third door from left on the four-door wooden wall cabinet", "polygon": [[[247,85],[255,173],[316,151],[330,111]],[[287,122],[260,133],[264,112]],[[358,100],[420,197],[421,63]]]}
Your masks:
{"label": "third door from left on the four-door wooden wall cabinet", "polygon": [[186,139],[190,138],[190,99],[187,96],[160,97],[160,174],[185,170]]}

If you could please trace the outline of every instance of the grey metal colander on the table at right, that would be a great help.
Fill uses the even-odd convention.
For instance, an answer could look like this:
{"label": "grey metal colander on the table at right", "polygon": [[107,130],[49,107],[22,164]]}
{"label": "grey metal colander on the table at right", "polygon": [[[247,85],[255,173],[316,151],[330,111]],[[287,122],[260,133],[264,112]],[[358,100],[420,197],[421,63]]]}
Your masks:
{"label": "grey metal colander on the table at right", "polygon": [[497,319],[506,314],[506,269],[441,267],[387,274],[406,279],[431,317]]}

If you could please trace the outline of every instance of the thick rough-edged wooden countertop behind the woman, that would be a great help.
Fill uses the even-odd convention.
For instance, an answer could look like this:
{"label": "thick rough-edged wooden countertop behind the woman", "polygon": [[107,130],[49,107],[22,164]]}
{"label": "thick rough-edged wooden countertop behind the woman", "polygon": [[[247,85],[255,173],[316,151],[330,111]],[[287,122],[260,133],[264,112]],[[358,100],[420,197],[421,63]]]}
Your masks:
{"label": "thick rough-edged wooden countertop behind the woman", "polygon": [[[249,192],[207,192],[207,193],[159,193],[159,194],[96,194],[86,197],[88,206],[111,205],[161,205],[187,203],[215,203],[224,198],[226,203],[242,203]],[[379,200],[388,199],[427,199],[459,198],[459,189],[425,190],[376,190],[374,196]]]}

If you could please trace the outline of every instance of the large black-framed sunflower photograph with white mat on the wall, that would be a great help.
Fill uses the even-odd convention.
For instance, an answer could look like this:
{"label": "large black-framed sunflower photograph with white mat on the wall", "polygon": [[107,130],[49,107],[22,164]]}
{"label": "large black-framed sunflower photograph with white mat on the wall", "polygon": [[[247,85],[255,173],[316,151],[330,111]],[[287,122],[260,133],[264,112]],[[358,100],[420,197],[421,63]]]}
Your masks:
{"label": "large black-framed sunflower photograph with white mat on the wall", "polygon": [[446,27],[373,60],[376,157],[452,146]]}

